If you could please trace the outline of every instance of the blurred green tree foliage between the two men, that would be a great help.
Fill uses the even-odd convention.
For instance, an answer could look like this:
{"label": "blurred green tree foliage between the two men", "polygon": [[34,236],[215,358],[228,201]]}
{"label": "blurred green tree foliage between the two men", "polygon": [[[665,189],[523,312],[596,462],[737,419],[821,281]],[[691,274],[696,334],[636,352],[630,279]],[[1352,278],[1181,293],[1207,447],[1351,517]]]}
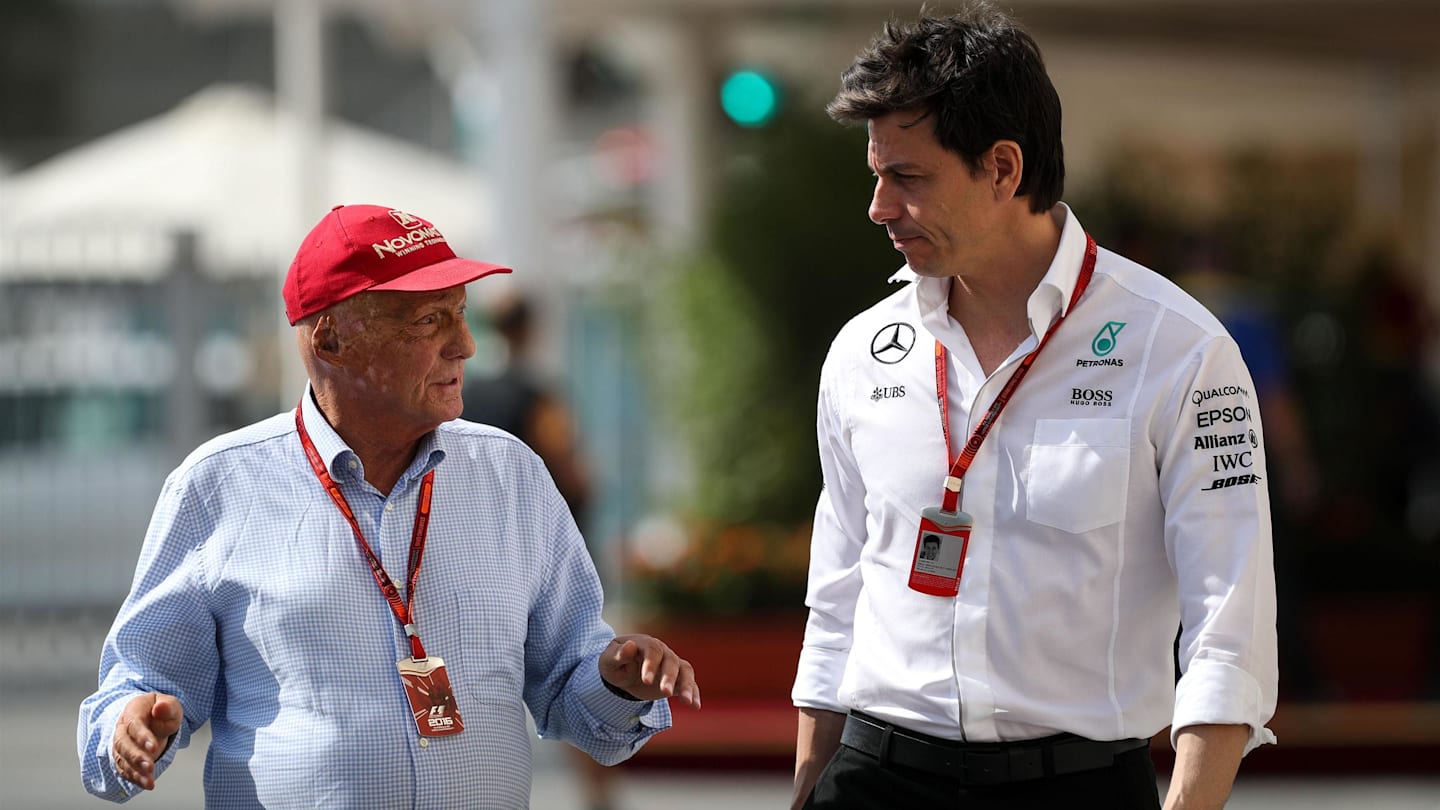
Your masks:
{"label": "blurred green tree foliage between the two men", "polygon": [[865,213],[864,130],[819,108],[732,133],[710,249],[660,300],[667,347],[680,349],[662,391],[688,440],[703,520],[812,516],[821,363],[904,261]]}

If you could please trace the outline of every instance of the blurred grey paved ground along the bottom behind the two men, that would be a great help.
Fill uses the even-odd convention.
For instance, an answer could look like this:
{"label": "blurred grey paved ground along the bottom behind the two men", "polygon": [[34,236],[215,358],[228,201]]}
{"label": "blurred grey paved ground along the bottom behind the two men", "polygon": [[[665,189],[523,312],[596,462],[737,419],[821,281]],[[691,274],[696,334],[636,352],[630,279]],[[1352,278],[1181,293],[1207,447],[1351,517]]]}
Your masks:
{"label": "blurred grey paved ground along the bottom behind the two men", "polygon": [[[75,760],[75,712],[86,687],[52,685],[0,693],[0,807],[4,810],[81,810],[102,807],[79,785]],[[181,752],[158,788],[137,798],[143,810],[199,810],[204,765],[202,735]],[[556,744],[540,742],[531,807],[583,810],[567,761]],[[778,773],[621,771],[616,810],[760,810],[785,807],[789,778]],[[1433,780],[1390,778],[1243,781],[1231,810],[1440,810],[1440,774]]]}

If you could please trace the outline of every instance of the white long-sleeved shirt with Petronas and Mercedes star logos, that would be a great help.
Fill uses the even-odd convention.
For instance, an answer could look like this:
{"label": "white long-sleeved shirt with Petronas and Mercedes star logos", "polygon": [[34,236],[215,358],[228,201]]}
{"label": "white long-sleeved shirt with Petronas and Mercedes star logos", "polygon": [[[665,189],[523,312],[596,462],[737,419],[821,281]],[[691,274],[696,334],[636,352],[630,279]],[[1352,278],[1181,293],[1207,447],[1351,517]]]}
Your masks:
{"label": "white long-sleeved shirt with Petronas and Mercedes star logos", "polygon": [[[903,270],[912,282],[835,337],[821,372],[825,489],[793,702],[950,739],[1246,724],[1247,751],[1274,742],[1254,383],[1214,316],[1110,251],[965,476],[975,529],[959,595],[907,587],[946,458],[1070,300],[1086,236],[1064,205],[1057,218],[1058,251],[1028,301],[1031,337],[988,378],[949,316],[948,278]],[[949,356],[950,453],[936,339]]]}

